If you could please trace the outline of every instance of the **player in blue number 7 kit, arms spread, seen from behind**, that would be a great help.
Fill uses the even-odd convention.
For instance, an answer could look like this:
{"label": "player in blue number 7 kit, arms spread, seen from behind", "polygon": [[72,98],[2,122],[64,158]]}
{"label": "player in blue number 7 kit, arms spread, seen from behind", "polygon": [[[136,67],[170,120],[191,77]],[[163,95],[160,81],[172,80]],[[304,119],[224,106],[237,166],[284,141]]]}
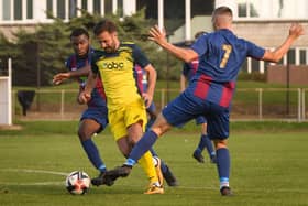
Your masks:
{"label": "player in blue number 7 kit, arms spread, seen from behind", "polygon": [[172,127],[202,115],[208,121],[208,135],[216,147],[220,193],[222,196],[232,195],[229,186],[230,155],[227,140],[231,100],[241,65],[248,56],[279,62],[293,43],[304,34],[304,29],[300,24],[293,24],[282,45],[275,51],[270,51],[233,34],[232,11],[228,7],[219,7],[213,11],[212,24],[215,32],[199,37],[190,48],[168,43],[166,32],[161,31],[158,26],[150,30],[151,41],[185,62],[198,58],[199,66],[186,90],[163,109],[151,130],[135,144],[127,162],[107,172],[107,177],[116,180],[128,176],[135,162],[158,137]]}

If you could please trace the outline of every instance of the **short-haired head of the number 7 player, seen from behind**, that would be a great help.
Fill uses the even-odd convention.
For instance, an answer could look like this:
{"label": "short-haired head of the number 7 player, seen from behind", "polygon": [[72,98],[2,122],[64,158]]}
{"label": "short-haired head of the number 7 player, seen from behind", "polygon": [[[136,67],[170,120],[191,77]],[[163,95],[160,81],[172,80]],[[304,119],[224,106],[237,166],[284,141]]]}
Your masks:
{"label": "short-haired head of the number 7 player, seen from behind", "polygon": [[230,29],[232,25],[232,10],[229,7],[222,6],[217,8],[212,13],[213,29]]}

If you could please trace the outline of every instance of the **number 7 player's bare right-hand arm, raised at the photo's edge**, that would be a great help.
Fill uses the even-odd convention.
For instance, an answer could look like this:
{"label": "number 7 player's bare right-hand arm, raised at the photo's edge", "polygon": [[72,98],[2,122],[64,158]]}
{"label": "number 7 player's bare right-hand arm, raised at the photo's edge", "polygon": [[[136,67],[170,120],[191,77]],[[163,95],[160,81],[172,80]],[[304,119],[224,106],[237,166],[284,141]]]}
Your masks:
{"label": "number 7 player's bare right-hand arm, raised at the photo's edge", "polygon": [[304,28],[302,25],[298,23],[292,24],[289,29],[289,34],[285,42],[277,47],[275,51],[266,51],[264,56],[262,57],[263,61],[268,61],[268,62],[274,62],[277,63],[279,62],[284,55],[288,52],[293,43],[300,36],[304,35]]}

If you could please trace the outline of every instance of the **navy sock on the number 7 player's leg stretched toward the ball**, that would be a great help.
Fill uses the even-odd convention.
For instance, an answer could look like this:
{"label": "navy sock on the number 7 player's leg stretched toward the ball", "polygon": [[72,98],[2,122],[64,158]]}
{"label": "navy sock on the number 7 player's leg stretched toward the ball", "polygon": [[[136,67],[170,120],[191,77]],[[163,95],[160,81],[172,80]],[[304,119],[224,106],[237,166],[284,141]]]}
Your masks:
{"label": "navy sock on the number 7 player's leg stretched toward the ball", "polygon": [[133,147],[133,150],[124,164],[133,166],[147,150],[151,150],[157,138],[157,134],[152,130],[145,132],[141,140],[139,140],[139,142]]}

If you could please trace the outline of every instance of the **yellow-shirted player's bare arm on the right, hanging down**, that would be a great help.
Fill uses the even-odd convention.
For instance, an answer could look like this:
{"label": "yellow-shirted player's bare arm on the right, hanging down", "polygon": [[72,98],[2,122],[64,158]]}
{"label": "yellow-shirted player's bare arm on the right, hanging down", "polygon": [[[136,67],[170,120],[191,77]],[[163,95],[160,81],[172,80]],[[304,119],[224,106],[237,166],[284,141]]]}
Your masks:
{"label": "yellow-shirted player's bare arm on the right, hanging down", "polygon": [[153,101],[153,97],[154,97],[154,90],[155,90],[155,85],[156,85],[156,79],[157,79],[157,72],[151,64],[146,65],[144,67],[144,69],[147,72],[148,85],[147,85],[146,93],[143,93],[142,97],[146,104],[146,107],[150,107]]}

